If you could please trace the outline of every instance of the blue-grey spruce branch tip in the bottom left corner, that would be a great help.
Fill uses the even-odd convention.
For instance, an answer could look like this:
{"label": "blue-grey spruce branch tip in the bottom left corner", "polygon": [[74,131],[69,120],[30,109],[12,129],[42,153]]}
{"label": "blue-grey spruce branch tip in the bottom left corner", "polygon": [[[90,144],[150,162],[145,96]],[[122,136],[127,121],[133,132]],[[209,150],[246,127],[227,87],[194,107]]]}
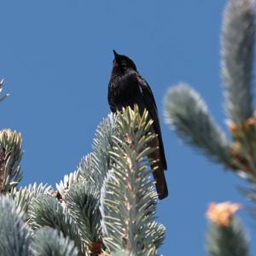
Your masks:
{"label": "blue-grey spruce branch tip in the bottom left corner", "polygon": [[0,197],[0,254],[27,256],[31,232],[23,221],[23,212],[9,196]]}

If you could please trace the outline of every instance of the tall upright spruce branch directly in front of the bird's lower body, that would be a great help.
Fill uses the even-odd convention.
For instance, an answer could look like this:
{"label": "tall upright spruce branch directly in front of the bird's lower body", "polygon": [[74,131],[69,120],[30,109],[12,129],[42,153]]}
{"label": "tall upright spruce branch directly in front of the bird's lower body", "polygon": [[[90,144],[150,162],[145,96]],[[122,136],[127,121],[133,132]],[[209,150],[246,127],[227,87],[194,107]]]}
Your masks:
{"label": "tall upright spruce branch directly in front of the bird's lower body", "polygon": [[141,116],[137,106],[119,113],[122,137],[113,136],[113,166],[101,192],[103,241],[110,252],[123,249],[134,255],[156,255],[165,236],[164,228],[154,223],[157,194],[147,157],[156,149],[148,148],[156,137],[150,132],[152,123],[148,112]]}

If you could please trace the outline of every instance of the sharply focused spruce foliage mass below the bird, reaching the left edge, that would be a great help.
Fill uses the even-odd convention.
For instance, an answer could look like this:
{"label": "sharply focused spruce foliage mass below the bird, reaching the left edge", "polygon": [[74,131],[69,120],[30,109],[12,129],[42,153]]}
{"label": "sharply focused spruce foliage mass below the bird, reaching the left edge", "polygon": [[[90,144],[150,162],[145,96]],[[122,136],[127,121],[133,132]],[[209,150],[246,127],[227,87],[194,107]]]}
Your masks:
{"label": "sharply focused spruce foliage mass below the bird, reaching the left edge", "polygon": [[165,228],[155,222],[152,123],[137,107],[110,113],[96,130],[92,152],[55,192],[43,183],[16,187],[21,136],[0,132],[9,159],[2,168],[2,194],[9,195],[0,197],[1,255],[158,255]]}

